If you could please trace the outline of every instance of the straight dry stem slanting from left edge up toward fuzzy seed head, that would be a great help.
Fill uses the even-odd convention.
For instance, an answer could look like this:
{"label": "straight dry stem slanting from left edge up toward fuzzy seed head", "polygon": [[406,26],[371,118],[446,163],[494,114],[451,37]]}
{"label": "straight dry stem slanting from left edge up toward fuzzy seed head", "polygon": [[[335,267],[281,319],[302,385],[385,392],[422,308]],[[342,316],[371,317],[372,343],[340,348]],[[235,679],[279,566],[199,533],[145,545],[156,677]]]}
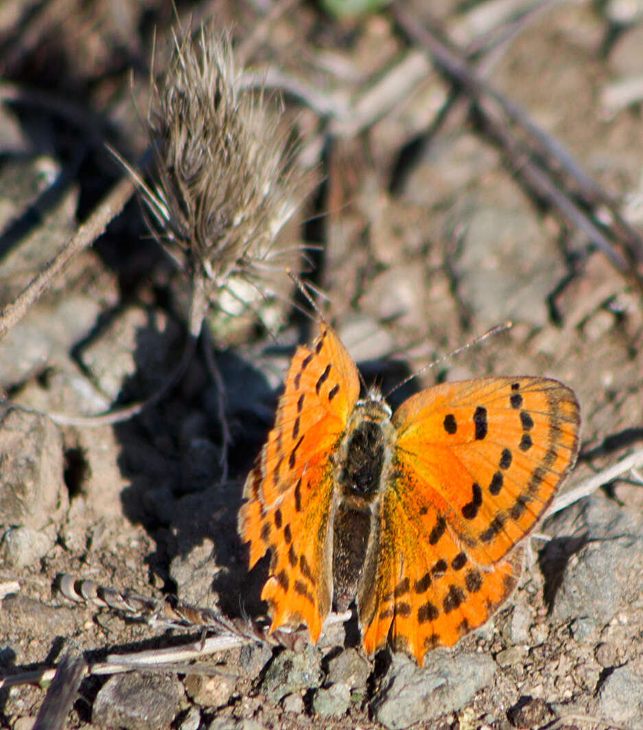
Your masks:
{"label": "straight dry stem slanting from left edge up toward fuzzy seed head", "polygon": [[133,193],[134,183],[128,177],[123,177],[112,188],[91,217],[78,228],[74,236],[47,263],[45,269],[36,274],[26,288],[18,294],[15,301],[0,312],[0,339],[26,315],[30,307],[47,291],[53,279],[64,271],[72,258],[91,246],[104,233],[105,228],[123,210]]}

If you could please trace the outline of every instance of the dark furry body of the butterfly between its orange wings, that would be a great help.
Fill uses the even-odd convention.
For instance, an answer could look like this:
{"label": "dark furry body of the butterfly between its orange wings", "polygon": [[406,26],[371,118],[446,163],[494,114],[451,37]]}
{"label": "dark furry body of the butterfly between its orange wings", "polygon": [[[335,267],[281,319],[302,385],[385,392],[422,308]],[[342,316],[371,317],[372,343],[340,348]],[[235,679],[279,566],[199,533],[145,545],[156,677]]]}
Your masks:
{"label": "dark furry body of the butterfly between its orange wings", "polygon": [[355,404],[338,450],[333,585],[334,603],[339,611],[346,610],[358,593],[369,544],[377,533],[380,491],[395,440],[390,415],[379,391],[370,391]]}

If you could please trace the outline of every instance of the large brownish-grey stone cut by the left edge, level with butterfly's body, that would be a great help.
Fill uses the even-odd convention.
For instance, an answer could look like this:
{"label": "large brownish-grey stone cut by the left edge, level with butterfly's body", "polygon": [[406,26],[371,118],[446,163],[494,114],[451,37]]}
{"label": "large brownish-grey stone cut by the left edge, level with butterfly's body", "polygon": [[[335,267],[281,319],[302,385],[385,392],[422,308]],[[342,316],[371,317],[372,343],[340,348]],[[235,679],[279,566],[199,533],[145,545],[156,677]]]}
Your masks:
{"label": "large brownish-grey stone cut by the left edge, level with butterfly's body", "polygon": [[0,464],[2,524],[38,530],[66,510],[61,434],[45,415],[0,409]]}

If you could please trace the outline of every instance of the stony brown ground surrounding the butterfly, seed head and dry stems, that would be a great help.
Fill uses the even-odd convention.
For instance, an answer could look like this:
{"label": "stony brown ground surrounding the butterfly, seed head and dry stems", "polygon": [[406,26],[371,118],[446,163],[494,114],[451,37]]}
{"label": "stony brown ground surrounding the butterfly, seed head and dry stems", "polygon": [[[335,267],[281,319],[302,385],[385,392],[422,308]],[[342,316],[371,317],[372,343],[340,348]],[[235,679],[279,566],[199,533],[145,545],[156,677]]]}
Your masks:
{"label": "stony brown ground surrounding the butterfly, seed head and dry stems", "polygon": [[[493,0],[445,2],[438,18],[424,5],[404,11],[436,33],[439,21],[461,50],[482,48],[471,67],[640,228],[643,5],[543,4],[519,27],[503,13],[515,19],[526,3],[508,11]],[[104,142],[130,160],[145,149],[153,31],[162,57],[177,24],[164,6],[51,0],[0,11],[1,304],[122,174]],[[641,450],[643,257],[596,191],[558,178],[582,213],[572,225],[534,193],[530,155],[507,152],[484,108],[469,115],[456,96],[445,115],[453,87],[401,29],[396,7],[336,18],[313,3],[247,0],[177,12],[195,27],[212,17],[231,27],[248,68],[286,88],[282,123],[304,136],[299,164],[317,187],[277,245],[315,246],[308,257],[325,310],[366,379],[386,390],[510,318],[510,331],[441,361],[423,384],[539,374],[574,388],[582,452],[563,492]],[[497,28],[515,33],[485,50]],[[293,79],[307,91],[288,93]],[[587,221],[609,248],[588,240]],[[280,284],[266,278],[266,289],[288,285],[282,270],[274,276]],[[201,639],[198,629],[154,631],[74,603],[55,588],[61,574],[153,599],[176,595],[232,618],[265,610],[261,567],[247,572],[236,512],[293,346],[309,334],[291,294],[210,317],[231,436],[227,475],[208,345],[172,393],[136,418],[89,427],[55,417],[153,393],[180,358],[190,285],[133,201],[2,339],[2,677],[54,666],[69,650],[96,663]],[[642,728],[643,491],[628,466],[539,526],[511,602],[421,669],[388,651],[369,660],[355,626],[339,624],[317,647],[253,642],[180,671],[92,675],[67,724]],[[0,688],[0,726],[31,729],[44,697],[37,683]]]}

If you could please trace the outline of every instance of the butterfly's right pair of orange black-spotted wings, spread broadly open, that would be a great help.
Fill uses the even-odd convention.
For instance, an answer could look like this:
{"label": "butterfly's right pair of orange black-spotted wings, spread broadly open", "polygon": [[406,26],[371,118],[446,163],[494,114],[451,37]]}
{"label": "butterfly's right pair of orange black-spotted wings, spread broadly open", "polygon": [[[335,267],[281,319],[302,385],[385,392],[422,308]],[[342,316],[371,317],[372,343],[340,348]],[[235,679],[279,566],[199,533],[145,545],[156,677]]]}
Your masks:
{"label": "butterfly's right pair of orange black-spotted wings, spread broadly open", "polygon": [[390,635],[421,664],[490,618],[520,576],[517,543],[574,465],[579,422],[574,393],[536,377],[445,383],[401,404],[358,598],[369,653]]}

